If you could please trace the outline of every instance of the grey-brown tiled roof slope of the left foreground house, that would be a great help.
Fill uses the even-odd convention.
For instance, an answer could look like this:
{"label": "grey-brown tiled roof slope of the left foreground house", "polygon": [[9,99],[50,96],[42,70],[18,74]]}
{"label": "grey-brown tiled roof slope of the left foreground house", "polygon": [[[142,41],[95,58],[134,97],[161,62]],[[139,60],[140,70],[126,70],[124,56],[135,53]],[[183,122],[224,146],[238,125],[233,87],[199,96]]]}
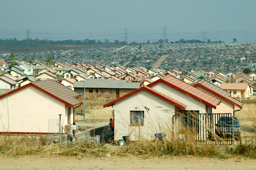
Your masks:
{"label": "grey-brown tiled roof slope of the left foreground house", "polygon": [[55,95],[56,97],[66,101],[67,103],[75,106],[77,104],[82,103],[81,101],[77,100],[75,97],[79,96],[78,93],[74,92],[73,90],[63,86],[62,84],[58,83],[54,80],[44,80],[44,81],[35,81],[33,82],[36,86],[46,90],[47,92]]}

